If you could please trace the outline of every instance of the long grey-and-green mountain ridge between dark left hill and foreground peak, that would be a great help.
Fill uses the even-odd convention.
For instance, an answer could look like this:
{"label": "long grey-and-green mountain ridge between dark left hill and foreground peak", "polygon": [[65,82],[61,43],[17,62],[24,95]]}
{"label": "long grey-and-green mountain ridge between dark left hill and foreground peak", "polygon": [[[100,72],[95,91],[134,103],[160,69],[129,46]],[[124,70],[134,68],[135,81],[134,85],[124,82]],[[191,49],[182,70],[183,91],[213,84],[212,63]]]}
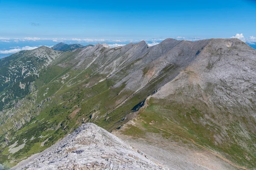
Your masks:
{"label": "long grey-and-green mountain ridge between dark left hill and foreground peak", "polygon": [[[172,132],[192,146],[195,141],[236,164],[255,166],[256,50],[241,40],[166,39],[152,47],[142,41],[56,53],[59,56],[44,62],[35,77],[35,89],[16,102],[17,107],[0,113],[1,154],[10,154],[10,160],[17,163],[82,123],[93,122],[108,131],[119,129],[144,139],[159,134],[169,139],[173,137],[166,131]],[[30,56],[23,55],[26,51],[20,54]],[[32,54],[49,61],[45,51],[40,52],[42,56]],[[46,135],[51,137],[44,142],[48,137],[41,137]],[[32,136],[35,139],[29,141]],[[16,141],[17,146],[26,142],[16,153],[9,153]]]}

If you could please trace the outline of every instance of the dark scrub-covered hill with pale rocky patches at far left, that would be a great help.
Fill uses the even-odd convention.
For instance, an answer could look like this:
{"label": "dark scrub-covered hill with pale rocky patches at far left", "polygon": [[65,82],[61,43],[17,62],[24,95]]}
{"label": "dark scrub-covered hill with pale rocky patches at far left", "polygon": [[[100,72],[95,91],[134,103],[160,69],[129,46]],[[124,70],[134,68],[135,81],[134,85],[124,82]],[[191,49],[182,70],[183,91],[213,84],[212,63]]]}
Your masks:
{"label": "dark scrub-covered hill with pale rocky patches at far left", "polygon": [[0,110],[12,106],[13,101],[22,99],[33,90],[33,82],[39,72],[61,54],[46,46],[24,50],[0,59]]}

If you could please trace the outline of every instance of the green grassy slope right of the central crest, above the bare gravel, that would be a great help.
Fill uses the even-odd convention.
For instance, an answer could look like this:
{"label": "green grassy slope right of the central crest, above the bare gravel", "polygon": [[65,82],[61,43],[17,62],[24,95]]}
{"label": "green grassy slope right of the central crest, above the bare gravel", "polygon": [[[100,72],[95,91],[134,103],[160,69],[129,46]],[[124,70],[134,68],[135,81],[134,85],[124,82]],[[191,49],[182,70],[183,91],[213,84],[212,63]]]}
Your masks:
{"label": "green grassy slope right of the central crest, above the bare gravel", "polygon": [[[175,98],[175,96],[172,96]],[[220,133],[220,128],[214,122],[209,122],[205,125],[200,120],[205,118],[205,112],[207,108],[200,102],[195,102],[196,106],[189,104],[180,104],[177,102],[170,102],[166,99],[154,99],[151,98],[149,106],[141,111],[140,116],[137,118],[139,125],[127,125],[128,128],[123,134],[133,137],[139,137],[147,139],[147,132],[161,134],[163,138],[171,140],[177,140],[183,142],[193,142],[207,150],[216,153],[218,157],[225,161],[231,161],[230,164],[238,167],[253,168],[256,166],[256,155],[253,150],[253,141],[256,140],[253,134],[250,134],[252,141],[248,140],[249,148],[241,147],[241,145],[230,142],[239,141],[239,125],[230,124],[227,129],[230,140],[225,139],[225,142],[216,144],[214,135]],[[218,113],[226,114],[228,113]],[[212,115],[214,119],[214,114]],[[226,117],[224,116],[224,117]],[[246,169],[246,168],[245,168]]]}

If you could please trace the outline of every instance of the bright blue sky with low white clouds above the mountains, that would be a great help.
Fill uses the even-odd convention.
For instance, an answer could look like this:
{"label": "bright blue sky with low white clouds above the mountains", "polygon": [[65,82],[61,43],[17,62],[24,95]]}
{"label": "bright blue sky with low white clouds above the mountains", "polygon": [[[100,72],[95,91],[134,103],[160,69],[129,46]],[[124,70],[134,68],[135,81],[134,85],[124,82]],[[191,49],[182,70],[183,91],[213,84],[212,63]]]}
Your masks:
{"label": "bright blue sky with low white clouds above the mountains", "polygon": [[256,42],[255,0],[0,0],[0,56],[13,47],[61,41],[126,44],[233,36]]}

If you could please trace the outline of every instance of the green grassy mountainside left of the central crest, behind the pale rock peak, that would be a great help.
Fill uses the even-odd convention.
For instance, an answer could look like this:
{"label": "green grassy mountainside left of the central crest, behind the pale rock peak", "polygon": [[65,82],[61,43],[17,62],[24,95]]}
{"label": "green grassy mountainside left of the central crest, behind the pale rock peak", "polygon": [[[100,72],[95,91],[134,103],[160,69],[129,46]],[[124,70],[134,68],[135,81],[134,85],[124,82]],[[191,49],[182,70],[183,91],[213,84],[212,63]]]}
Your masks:
{"label": "green grassy mountainside left of the central crest, behind the pale rock peak", "polygon": [[[10,140],[8,146],[16,141],[18,143],[17,146],[19,146],[23,144],[23,139],[27,139],[26,145],[14,154],[9,153],[8,146],[3,147],[1,149],[2,159],[0,163],[5,164],[7,167],[12,167],[21,159],[51,146],[85,121],[95,122],[98,125],[108,126],[109,129],[113,129],[110,126],[122,119],[141,100],[134,97],[120,107],[118,111],[115,111],[114,108],[126,97],[130,96],[132,92],[125,91],[119,94],[119,91],[124,86],[113,89],[111,88],[114,84],[112,80],[107,79],[99,82],[102,79],[102,75],[90,76],[90,69],[83,71],[83,74],[79,74],[80,72],[70,71],[70,69],[58,66],[52,66],[47,70],[41,71],[40,78],[35,81],[38,91],[35,92],[33,98],[31,98],[32,94],[26,96],[28,100],[35,102],[35,107],[31,108],[32,114],[34,114],[33,119],[17,132],[8,130],[8,127],[11,127],[11,121],[7,122],[0,131],[2,141],[6,136],[5,131],[8,131]],[[64,83],[62,83],[60,77],[67,73],[69,77],[64,79]],[[80,83],[72,83],[79,81]],[[47,98],[50,100],[45,100]],[[42,100],[44,100],[43,103],[41,102]],[[26,104],[23,105],[23,108],[26,107]],[[79,111],[72,114],[77,109]],[[19,113],[14,119],[18,120],[25,114]],[[114,127],[116,126],[119,125],[114,125]],[[33,136],[35,139],[29,140]],[[39,136],[46,137],[38,138]],[[41,143],[47,138],[49,138],[48,142],[43,147],[40,147]],[[7,156],[9,155],[11,157],[8,159]]]}

